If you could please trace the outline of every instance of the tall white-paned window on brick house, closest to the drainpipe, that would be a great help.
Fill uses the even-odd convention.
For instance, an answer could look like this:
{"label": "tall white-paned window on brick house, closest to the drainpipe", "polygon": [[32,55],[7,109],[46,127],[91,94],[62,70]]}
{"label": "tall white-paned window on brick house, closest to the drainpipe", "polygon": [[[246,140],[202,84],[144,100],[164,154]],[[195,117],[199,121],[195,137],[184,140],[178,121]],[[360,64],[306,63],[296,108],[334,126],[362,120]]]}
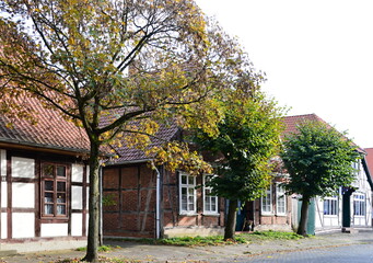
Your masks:
{"label": "tall white-paned window on brick house, closest to the drainpipe", "polygon": [[179,173],[180,214],[196,213],[196,176]]}

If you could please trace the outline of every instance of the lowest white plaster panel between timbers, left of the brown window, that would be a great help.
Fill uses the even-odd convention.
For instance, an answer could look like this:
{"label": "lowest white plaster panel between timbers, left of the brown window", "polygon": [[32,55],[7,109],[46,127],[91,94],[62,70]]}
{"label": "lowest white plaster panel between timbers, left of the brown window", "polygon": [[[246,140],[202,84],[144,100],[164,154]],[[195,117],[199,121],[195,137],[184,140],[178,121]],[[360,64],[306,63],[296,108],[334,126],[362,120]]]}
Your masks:
{"label": "lowest white plaster panel between timbers, left of the brown window", "polygon": [[13,238],[34,238],[35,236],[35,214],[13,213],[12,214],[12,236]]}

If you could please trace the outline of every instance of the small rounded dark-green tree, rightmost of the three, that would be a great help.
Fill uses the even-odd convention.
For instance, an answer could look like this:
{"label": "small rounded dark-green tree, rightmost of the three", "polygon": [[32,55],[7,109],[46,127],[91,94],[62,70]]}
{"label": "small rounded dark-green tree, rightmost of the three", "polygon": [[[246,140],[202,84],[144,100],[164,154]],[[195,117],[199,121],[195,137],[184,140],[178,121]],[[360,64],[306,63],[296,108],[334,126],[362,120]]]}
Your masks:
{"label": "small rounded dark-green tree, rightmost of the three", "polygon": [[289,193],[302,195],[299,235],[306,236],[308,204],[315,196],[331,196],[354,179],[352,163],[360,158],[357,146],[345,134],[322,122],[304,122],[283,142],[281,158],[290,181]]}

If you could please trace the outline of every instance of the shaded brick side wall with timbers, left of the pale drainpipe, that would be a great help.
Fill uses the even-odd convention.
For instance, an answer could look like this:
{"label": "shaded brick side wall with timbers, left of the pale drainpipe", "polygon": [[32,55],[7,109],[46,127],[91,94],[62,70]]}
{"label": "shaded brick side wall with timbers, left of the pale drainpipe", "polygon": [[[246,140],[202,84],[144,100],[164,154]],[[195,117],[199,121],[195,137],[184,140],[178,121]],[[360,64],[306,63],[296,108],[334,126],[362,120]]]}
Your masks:
{"label": "shaded brick side wall with timbers, left of the pale drainpipe", "polygon": [[103,172],[104,235],[153,238],[156,178],[147,164],[108,167]]}

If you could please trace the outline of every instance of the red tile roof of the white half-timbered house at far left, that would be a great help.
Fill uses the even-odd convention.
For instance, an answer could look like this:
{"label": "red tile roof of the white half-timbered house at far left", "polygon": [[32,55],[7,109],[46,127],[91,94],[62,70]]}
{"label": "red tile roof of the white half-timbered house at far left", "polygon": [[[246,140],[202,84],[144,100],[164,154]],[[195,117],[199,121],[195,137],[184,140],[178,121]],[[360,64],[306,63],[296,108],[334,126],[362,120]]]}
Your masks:
{"label": "red tile roof of the white half-timbered house at far left", "polygon": [[[15,99],[15,103],[20,99]],[[0,115],[0,141],[15,145],[40,147],[73,152],[88,152],[89,140],[82,128],[67,122],[55,110],[45,108],[35,98],[22,99],[36,124],[22,118],[9,118]],[[7,124],[11,123],[12,127]]]}

